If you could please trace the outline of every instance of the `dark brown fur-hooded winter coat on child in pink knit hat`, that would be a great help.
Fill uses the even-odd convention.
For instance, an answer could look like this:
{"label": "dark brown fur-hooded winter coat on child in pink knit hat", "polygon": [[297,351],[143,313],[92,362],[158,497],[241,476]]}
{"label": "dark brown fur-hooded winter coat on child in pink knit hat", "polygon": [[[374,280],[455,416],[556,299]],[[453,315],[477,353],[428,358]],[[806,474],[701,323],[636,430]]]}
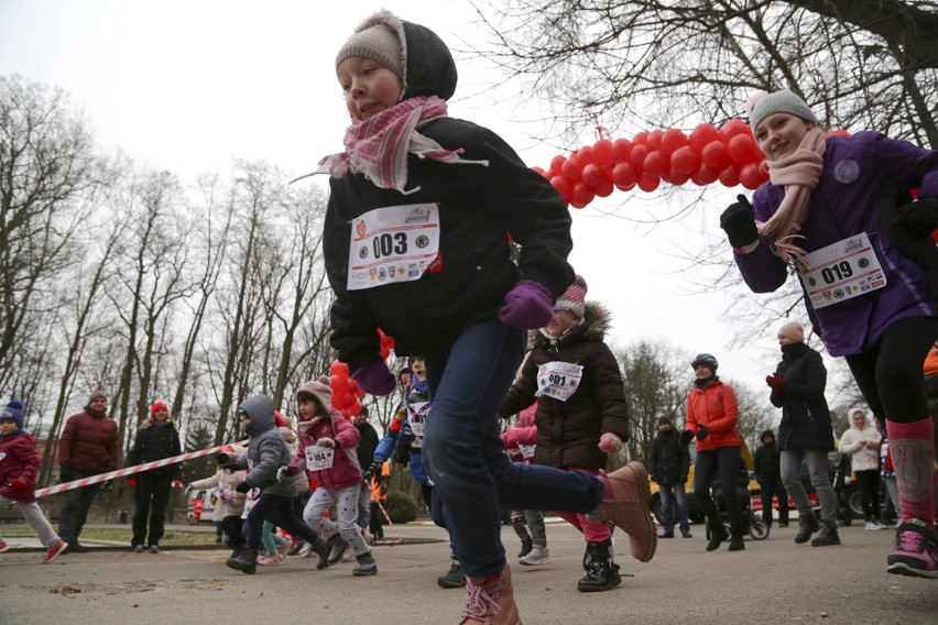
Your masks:
{"label": "dark brown fur-hooded winter coat on child in pink knit hat", "polygon": [[566,402],[542,395],[534,420],[537,448],[534,463],[547,467],[606,469],[606,453],[599,438],[613,432],[629,440],[629,406],[619,362],[603,342],[609,329],[609,311],[587,301],[583,321],[558,339],[538,330],[532,332],[534,347],[521,377],[509,390],[499,415],[514,415],[536,397],[537,371],[548,362],[563,361],[583,366],[576,392]]}

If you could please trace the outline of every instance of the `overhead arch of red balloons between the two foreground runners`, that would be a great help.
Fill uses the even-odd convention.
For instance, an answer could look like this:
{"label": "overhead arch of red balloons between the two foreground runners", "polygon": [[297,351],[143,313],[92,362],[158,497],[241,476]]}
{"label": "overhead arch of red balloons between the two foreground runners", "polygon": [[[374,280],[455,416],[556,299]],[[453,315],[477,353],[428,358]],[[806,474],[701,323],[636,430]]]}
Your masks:
{"label": "overhead arch of red balloons between the two foreground runners", "polygon": [[701,123],[690,134],[672,129],[640,132],[631,141],[602,138],[567,156],[554,156],[546,171],[533,169],[550,180],[567,204],[583,208],[615,189],[650,193],[662,183],[706,186],[719,180],[727,187],[756,189],[768,180],[764,158],[749,125],[731,119],[719,130]]}

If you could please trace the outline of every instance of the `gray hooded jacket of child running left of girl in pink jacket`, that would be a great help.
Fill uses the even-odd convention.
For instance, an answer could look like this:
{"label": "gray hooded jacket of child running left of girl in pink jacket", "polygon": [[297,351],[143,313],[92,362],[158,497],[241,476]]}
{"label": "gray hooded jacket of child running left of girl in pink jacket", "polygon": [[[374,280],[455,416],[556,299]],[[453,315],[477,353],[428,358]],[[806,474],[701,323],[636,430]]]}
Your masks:
{"label": "gray hooded jacket of child running left of girl in pink jacket", "polygon": [[239,410],[251,417],[251,441],[248,453],[238,457],[238,467],[248,469],[244,481],[252,489],[261,489],[261,494],[279,495],[281,497],[296,496],[295,478],[288,476],[283,482],[276,481],[276,471],[290,464],[293,454],[283,436],[276,427],[274,405],[266,395],[248,397]]}

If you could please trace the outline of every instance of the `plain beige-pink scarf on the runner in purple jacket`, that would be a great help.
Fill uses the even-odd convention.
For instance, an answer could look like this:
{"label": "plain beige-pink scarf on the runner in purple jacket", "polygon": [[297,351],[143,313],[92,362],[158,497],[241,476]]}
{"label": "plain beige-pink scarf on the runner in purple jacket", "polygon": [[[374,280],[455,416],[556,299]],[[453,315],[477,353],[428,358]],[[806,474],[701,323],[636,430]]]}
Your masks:
{"label": "plain beige-pink scarf on the runner in purple jacket", "polygon": [[798,268],[806,270],[803,249],[793,243],[808,217],[811,190],[818,186],[824,172],[824,132],[814,127],[805,133],[792,154],[768,163],[768,179],[785,187],[785,197],[768,221],[756,222],[759,233],[768,241],[772,252]]}

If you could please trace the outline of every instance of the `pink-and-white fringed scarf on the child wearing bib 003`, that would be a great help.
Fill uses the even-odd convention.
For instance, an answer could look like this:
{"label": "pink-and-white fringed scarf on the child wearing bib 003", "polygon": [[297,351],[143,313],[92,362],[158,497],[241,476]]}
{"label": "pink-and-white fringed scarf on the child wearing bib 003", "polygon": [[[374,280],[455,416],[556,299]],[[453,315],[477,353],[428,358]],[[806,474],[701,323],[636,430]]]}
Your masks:
{"label": "pink-and-white fringed scarf on the child wearing bib 003", "polygon": [[404,190],[408,153],[441,163],[488,165],[488,161],[463,161],[459,157],[461,147],[444,150],[439,143],[417,132],[430,121],[445,117],[446,111],[446,102],[436,96],[410,98],[367,121],[353,121],[346,130],[346,151],[319,161],[315,173],[336,178],[349,172],[364,174],[381,188],[408,195],[421,188]]}

